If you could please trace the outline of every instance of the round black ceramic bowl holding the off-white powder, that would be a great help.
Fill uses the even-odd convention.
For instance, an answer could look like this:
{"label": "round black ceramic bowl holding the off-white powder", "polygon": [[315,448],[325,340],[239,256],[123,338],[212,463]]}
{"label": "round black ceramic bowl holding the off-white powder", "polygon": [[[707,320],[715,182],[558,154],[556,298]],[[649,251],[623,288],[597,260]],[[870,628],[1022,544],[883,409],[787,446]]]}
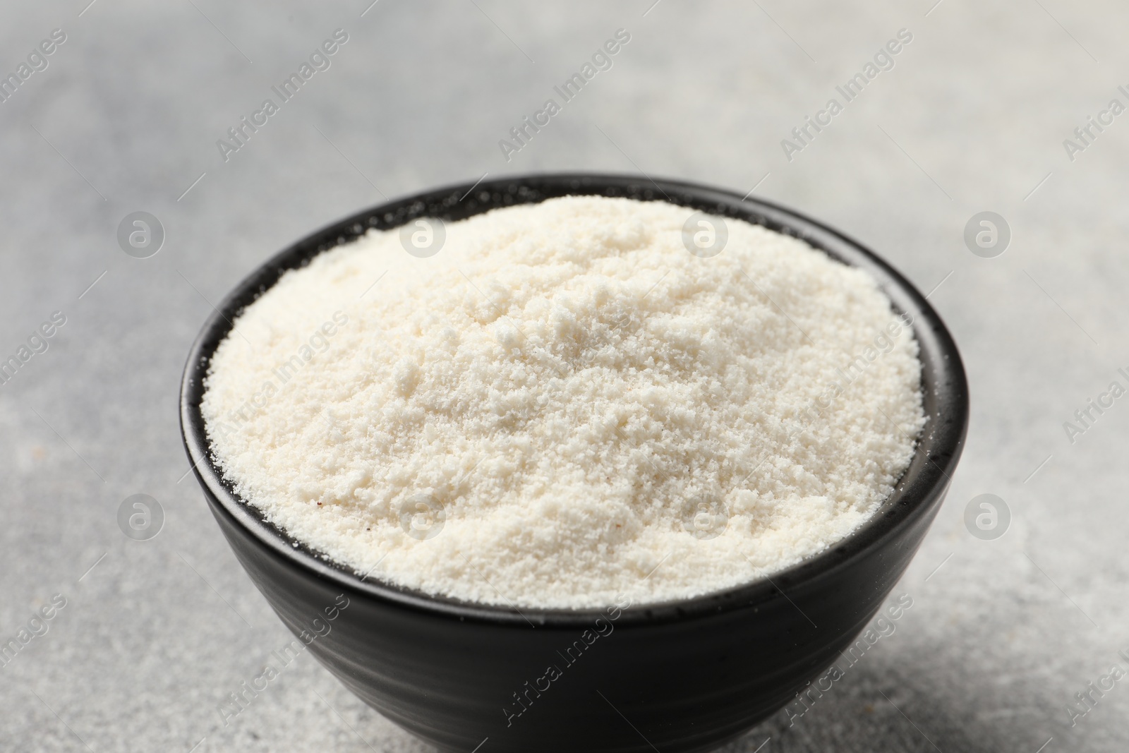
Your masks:
{"label": "round black ceramic bowl holding the off-white powder", "polygon": [[[928,422],[893,496],[858,531],[771,579],[620,610],[461,603],[362,579],[263,520],[209,453],[209,359],[239,312],[289,269],[368,228],[458,220],[568,194],[666,200],[803,238],[869,272],[921,347]],[[707,751],[793,700],[875,615],[948,489],[969,419],[956,345],[921,295],[859,244],[738,194],[633,176],[539,175],[460,185],[341,220],[278,254],[227,297],[181,386],[189,459],[251,579],[310,653],[366,703],[445,751]],[[478,747],[480,746],[481,747]]]}

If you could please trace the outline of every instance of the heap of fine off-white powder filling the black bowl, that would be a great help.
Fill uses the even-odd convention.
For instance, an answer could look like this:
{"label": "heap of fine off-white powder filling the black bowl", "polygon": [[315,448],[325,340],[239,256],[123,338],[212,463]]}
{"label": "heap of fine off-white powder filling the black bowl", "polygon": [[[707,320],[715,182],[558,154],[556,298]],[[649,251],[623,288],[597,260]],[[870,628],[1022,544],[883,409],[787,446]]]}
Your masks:
{"label": "heap of fine off-white powder filling the black bowl", "polygon": [[826,549],[909,464],[917,342],[795,238],[726,219],[691,255],[691,213],[572,196],[448,224],[429,259],[397,230],[320,255],[212,358],[219,465],[327,558],[472,602],[655,603]]}

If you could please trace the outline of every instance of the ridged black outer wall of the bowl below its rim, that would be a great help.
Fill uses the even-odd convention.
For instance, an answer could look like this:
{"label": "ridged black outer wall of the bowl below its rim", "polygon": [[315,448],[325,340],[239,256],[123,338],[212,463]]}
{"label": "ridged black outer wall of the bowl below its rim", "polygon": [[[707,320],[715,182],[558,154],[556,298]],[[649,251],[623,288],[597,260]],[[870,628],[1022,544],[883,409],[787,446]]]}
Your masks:
{"label": "ridged black outer wall of the bowl below its rim", "polygon": [[373,601],[262,548],[210,494],[209,504],[317,660],[440,750],[469,753],[489,738],[481,753],[674,753],[712,750],[795,701],[882,607],[944,491],[881,545],[786,596],[657,624],[623,624],[612,607],[587,634]]}

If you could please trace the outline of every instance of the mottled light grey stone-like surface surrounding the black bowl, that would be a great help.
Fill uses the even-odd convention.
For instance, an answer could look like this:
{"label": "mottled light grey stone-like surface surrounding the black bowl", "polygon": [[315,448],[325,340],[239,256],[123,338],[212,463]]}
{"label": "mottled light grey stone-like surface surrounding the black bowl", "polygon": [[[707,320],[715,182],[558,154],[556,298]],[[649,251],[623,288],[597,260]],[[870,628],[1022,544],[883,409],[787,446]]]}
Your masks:
{"label": "mottled light grey stone-like surface surrounding the black bowl", "polygon": [[[563,169],[754,190],[821,218],[931,291],[965,359],[971,430],[895,592],[912,607],[803,717],[725,750],[1129,747],[1129,680],[1091,691],[1092,709],[1076,699],[1129,667],[1127,401],[1064,427],[1129,384],[1129,115],[1109,110],[1129,105],[1129,9],[369,2],[0,7],[5,75],[65,34],[0,103],[0,356],[65,316],[0,385],[0,641],[65,599],[0,667],[0,748],[430,750],[309,656],[224,724],[225,695],[289,634],[185,476],[181,369],[211,304],[312,229],[485,173]],[[338,28],[331,67],[225,160],[217,140]],[[507,160],[499,140],[619,28],[612,68]],[[846,102],[837,85],[899,29],[912,41],[894,67]],[[842,112],[786,155],[831,98]],[[1106,124],[1082,141],[1089,116]],[[141,210],[166,234],[148,259],[116,238]],[[1001,255],[965,245],[981,211],[1010,228]],[[117,525],[134,493],[165,513],[148,541]],[[1010,510],[998,539],[965,526],[981,493]]]}

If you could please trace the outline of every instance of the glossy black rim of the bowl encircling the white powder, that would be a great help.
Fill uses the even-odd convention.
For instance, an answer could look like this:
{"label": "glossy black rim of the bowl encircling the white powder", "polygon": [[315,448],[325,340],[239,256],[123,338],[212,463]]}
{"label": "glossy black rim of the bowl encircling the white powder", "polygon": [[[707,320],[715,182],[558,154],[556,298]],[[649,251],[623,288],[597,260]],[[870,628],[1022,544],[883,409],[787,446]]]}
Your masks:
{"label": "glossy black rim of the bowl encircling the white powder", "polygon": [[[238,498],[216,466],[200,412],[203,378],[216,347],[231,331],[242,309],[277,282],[282,273],[304,266],[317,254],[348,243],[369,228],[392,229],[418,217],[455,221],[490,209],[536,203],[560,195],[612,195],[642,201],[666,200],[677,205],[742,219],[798,237],[849,266],[877,279],[895,313],[909,312],[922,362],[925,412],[929,417],[918,438],[910,466],[894,492],[858,528],[822,552],[771,576],[684,599],[631,605],[618,625],[663,623],[755,608],[787,592],[803,592],[833,577],[881,543],[930,514],[944,496],[964,444],[969,422],[969,392],[960,352],[939,315],[921,294],[867,247],[822,222],[779,204],[725,189],[679,180],[599,173],[545,173],[462,183],[385,201],[331,222],[290,244],[257,265],[209,315],[184,367],[180,394],[181,435],[196,481],[213,513],[231,518],[261,549],[290,567],[351,594],[437,618],[528,628],[583,628],[605,616],[606,608],[540,608],[472,603],[361,577],[265,520],[254,506]],[[467,201],[469,199],[469,201]],[[931,410],[930,410],[931,409]],[[790,601],[790,599],[789,599]],[[612,605],[609,605],[612,606]]]}

